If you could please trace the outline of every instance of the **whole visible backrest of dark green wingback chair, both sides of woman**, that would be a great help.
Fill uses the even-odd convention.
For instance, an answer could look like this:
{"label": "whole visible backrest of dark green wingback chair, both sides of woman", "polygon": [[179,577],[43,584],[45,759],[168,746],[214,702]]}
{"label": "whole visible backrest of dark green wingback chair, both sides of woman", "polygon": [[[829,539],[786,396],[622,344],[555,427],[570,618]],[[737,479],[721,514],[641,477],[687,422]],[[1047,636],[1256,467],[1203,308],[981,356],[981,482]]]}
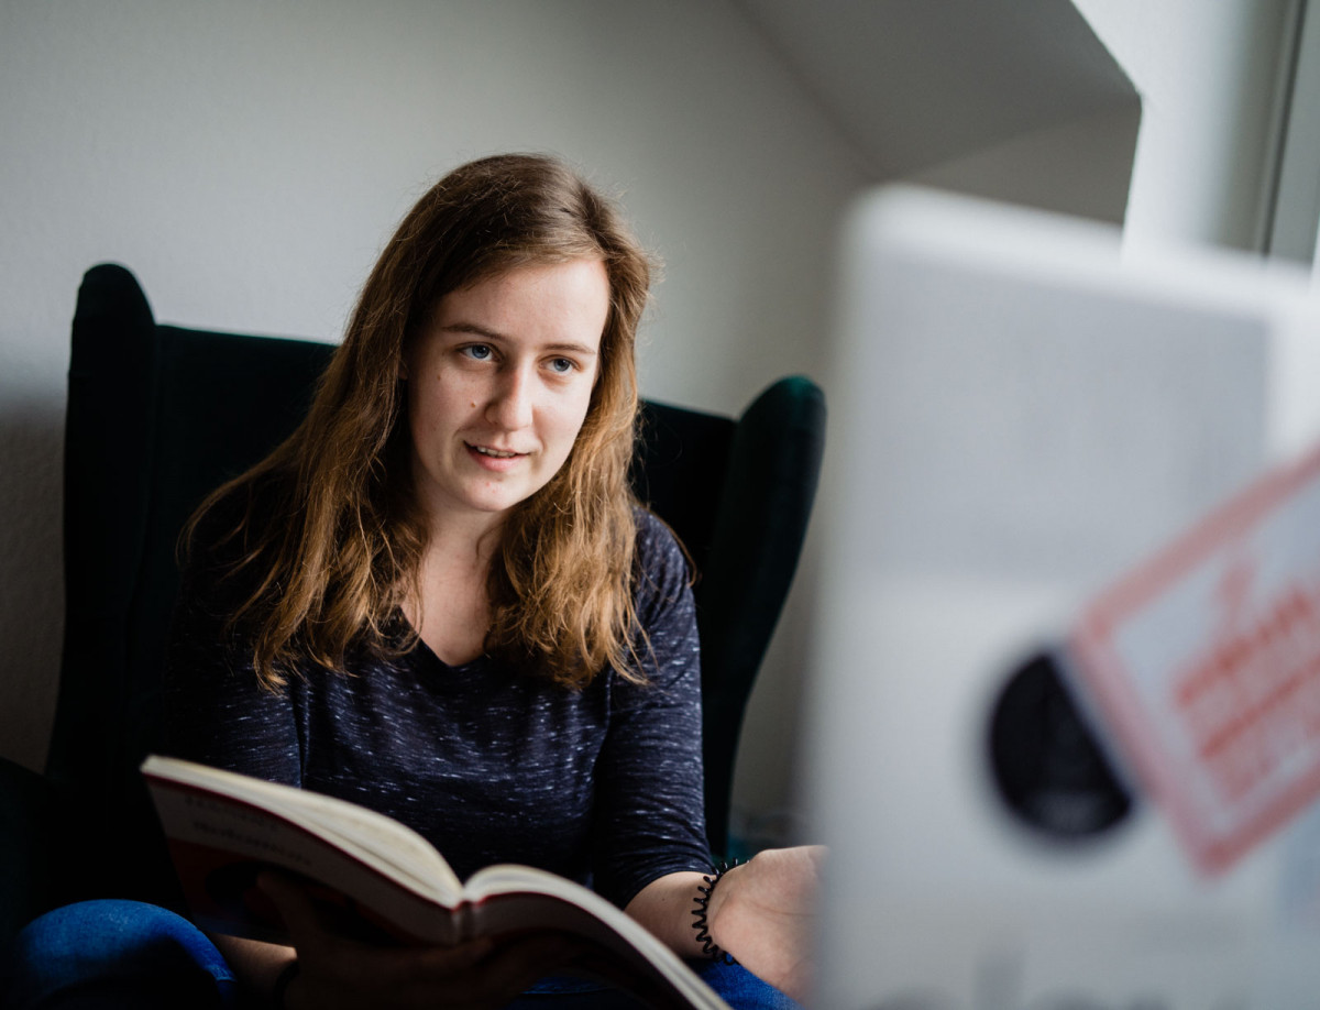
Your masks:
{"label": "whole visible backrest of dark green wingback chair, both sides of woman", "polygon": [[[66,624],[48,775],[117,825],[94,877],[166,900],[137,775],[157,746],[178,532],[306,411],[334,347],[158,325],[133,275],[94,267],[73,326],[65,449]],[[698,566],[708,817],[723,852],[742,712],[800,553],[824,403],[805,379],[729,417],[644,404],[634,482]],[[141,830],[133,829],[139,823]],[[121,836],[121,837],[120,837]]]}

